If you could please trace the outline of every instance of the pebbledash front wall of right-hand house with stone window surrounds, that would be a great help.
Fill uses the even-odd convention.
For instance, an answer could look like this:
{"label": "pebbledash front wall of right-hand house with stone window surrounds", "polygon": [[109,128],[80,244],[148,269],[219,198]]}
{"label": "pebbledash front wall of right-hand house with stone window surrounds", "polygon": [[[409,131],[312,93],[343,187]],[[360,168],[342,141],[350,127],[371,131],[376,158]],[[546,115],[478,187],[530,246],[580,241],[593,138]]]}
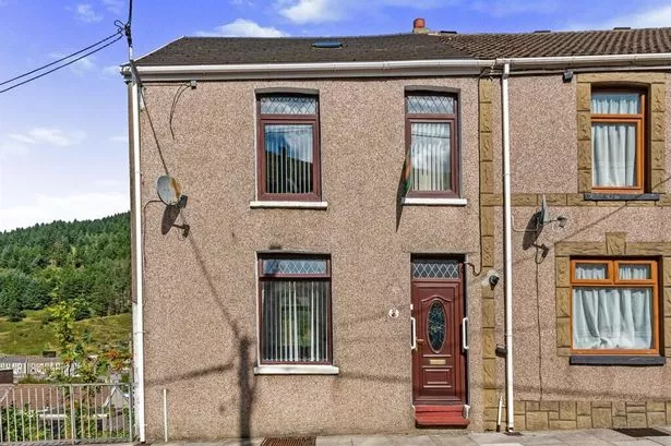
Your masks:
{"label": "pebbledash front wall of right-hand house with stone window surrounds", "polygon": [[[670,77],[666,73],[580,73],[571,83],[560,74],[510,79],[515,340],[515,429],[640,427],[671,423],[671,366],[571,365],[571,256],[646,256],[659,261],[660,354],[671,355],[671,141]],[[589,100],[592,85],[636,85],[648,89],[647,144],[649,190],[658,200],[592,201]],[[481,166],[493,191],[481,194],[483,251],[492,250],[503,269],[500,81],[492,89],[493,164]],[[482,95],[481,95],[482,96]],[[487,108],[487,104],[481,104]],[[481,125],[482,128],[482,125]],[[480,157],[489,159],[481,132]],[[484,169],[484,171],[482,170]],[[552,216],[566,227],[543,228],[537,240],[522,232],[546,195]],[[488,234],[492,233],[493,237]],[[525,239],[527,237],[527,239]],[[534,242],[534,243],[531,243]],[[547,254],[537,246],[548,248]],[[504,343],[503,287],[492,302],[493,335],[482,333],[484,370],[492,343]],[[483,296],[483,310],[488,297]],[[489,337],[493,340],[488,340]],[[504,395],[504,361],[494,360],[494,377],[484,379],[484,429],[495,427],[494,401]],[[495,383],[492,385],[492,383]],[[505,400],[504,400],[505,402]],[[505,411],[503,412],[505,419]]]}

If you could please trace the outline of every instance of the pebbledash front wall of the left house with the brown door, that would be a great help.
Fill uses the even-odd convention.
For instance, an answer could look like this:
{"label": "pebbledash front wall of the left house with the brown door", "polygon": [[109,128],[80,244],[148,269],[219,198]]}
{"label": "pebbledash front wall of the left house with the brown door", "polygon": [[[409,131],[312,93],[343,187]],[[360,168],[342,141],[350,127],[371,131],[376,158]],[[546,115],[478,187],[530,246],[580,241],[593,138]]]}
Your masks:
{"label": "pebbledash front wall of the left house with the brown door", "polygon": [[[404,88],[422,85],[460,92],[466,206],[398,204]],[[410,256],[463,254],[480,263],[478,80],[199,82],[176,107],[175,137],[169,118],[180,85],[145,87],[147,438],[163,437],[164,388],[171,439],[412,430]],[[319,91],[327,209],[250,208],[255,198],[254,92],[267,87]],[[176,220],[190,226],[188,237],[170,227],[175,216],[156,200],[155,181],[165,173],[179,179],[189,196]],[[491,241],[491,228],[487,237]],[[279,246],[331,254],[338,375],[254,375],[256,252]],[[491,244],[483,254],[493,265]],[[496,385],[494,301],[490,293],[481,306],[480,280],[467,275],[475,431],[484,429],[482,381]],[[393,308],[400,311],[396,320],[387,316]]]}

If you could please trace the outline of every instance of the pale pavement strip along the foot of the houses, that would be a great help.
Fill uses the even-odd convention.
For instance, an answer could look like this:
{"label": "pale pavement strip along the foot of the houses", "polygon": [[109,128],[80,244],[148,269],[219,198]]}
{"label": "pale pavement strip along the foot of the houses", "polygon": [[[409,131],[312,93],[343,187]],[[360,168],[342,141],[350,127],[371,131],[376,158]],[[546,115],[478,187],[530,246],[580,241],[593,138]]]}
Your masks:
{"label": "pale pavement strip along the foot of the houses", "polygon": [[[408,435],[340,435],[320,436],[316,446],[671,446],[671,426],[656,427],[669,436],[631,437],[610,429],[583,431],[503,433],[427,433]],[[171,443],[172,446],[259,446],[263,438],[228,439],[212,443]],[[155,443],[159,446],[160,443]],[[165,443],[163,445],[166,445]]]}

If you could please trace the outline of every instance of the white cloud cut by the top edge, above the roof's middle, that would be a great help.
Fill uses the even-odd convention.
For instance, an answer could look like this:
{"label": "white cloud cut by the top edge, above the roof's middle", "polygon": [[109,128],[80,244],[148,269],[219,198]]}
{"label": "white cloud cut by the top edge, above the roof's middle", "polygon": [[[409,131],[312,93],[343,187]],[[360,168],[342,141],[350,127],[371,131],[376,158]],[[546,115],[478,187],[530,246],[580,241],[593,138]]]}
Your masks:
{"label": "white cloud cut by the top edge, above the roof's middle", "polygon": [[[304,25],[338,22],[355,15],[371,15],[387,7],[431,10],[462,1],[464,0],[276,0],[274,5],[279,14],[296,24]],[[408,26],[411,26],[411,20],[408,23]]]}

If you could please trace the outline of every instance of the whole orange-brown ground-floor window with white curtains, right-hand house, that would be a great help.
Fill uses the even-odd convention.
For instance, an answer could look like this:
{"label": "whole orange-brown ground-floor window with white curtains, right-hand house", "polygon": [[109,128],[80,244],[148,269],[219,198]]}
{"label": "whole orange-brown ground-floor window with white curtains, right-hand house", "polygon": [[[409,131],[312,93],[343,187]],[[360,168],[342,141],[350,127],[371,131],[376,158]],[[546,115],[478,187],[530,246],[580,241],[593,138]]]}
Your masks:
{"label": "whole orange-brown ground-floor window with white curtains, right-hand house", "polygon": [[659,354],[657,262],[572,262],[573,351]]}

